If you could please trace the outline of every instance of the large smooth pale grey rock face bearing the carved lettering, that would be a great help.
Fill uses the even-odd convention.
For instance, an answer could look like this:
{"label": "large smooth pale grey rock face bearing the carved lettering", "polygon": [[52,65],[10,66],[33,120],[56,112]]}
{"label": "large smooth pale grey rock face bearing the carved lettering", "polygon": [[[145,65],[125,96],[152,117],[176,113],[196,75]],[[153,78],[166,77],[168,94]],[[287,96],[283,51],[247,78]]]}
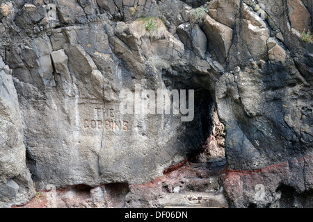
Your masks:
{"label": "large smooth pale grey rock face bearing the carved lettering", "polygon": [[[149,67],[138,62],[143,65],[141,71],[145,74],[138,79],[134,76],[136,72],[118,68],[120,62],[109,47],[109,38],[103,33],[104,38],[98,44],[98,40],[93,40],[97,37],[93,34],[95,31],[99,35],[105,29],[82,27],[72,32],[66,28],[64,43],[61,33],[56,31],[51,35],[52,46],[45,39],[33,41],[31,49],[38,54],[39,77],[45,87],[49,87],[49,92],[45,92],[43,86],[38,90],[40,99],[36,101],[29,101],[28,96],[33,95],[24,93],[29,92],[29,87],[35,87],[31,80],[24,84],[20,72],[14,71],[21,80],[16,82],[22,96],[19,104],[27,129],[24,135],[31,155],[29,162],[35,162],[31,168],[38,189],[44,189],[47,184],[65,187],[82,183],[95,186],[109,182],[146,182],[161,176],[170,164],[199,148],[207,137],[209,128],[191,133],[189,139],[183,136],[186,130],[199,128],[202,112],[195,114],[191,124],[179,121],[179,115],[121,114],[118,110],[120,90],[134,90],[136,83],[141,84],[142,89],[162,89],[164,86],[153,63]],[[59,39],[63,44],[58,43]],[[149,44],[154,60],[157,57],[179,60],[184,53],[182,42],[175,37],[151,40]],[[115,45],[115,50],[129,51],[122,42],[121,46],[116,49]],[[131,55],[136,52],[122,54],[126,62],[134,62]],[[16,65],[19,66],[25,65]],[[131,80],[133,76],[135,78]],[[55,84],[48,84],[51,81]],[[154,85],[157,81],[159,85]],[[202,110],[200,106],[199,109]],[[207,124],[209,126],[209,119]],[[181,141],[175,140],[177,136]],[[51,174],[52,171],[55,173]],[[73,177],[73,173],[76,176]]]}

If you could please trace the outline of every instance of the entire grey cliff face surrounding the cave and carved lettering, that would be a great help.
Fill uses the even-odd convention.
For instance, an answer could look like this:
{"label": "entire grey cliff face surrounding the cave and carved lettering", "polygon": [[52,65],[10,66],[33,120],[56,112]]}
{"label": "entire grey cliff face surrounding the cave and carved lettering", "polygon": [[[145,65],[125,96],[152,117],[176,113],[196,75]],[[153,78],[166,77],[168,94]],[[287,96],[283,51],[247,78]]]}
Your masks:
{"label": "entire grey cliff face surrounding the cave and carved lettering", "polygon": [[141,185],[214,140],[214,109],[227,205],[312,205],[312,1],[0,2],[0,207],[78,185],[160,207]]}

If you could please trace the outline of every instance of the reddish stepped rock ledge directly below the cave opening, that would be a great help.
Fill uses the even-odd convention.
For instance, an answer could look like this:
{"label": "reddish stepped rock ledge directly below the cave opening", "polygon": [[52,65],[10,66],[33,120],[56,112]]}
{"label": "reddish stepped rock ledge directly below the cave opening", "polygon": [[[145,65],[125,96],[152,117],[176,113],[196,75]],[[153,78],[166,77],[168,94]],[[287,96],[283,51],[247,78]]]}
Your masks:
{"label": "reddish stepped rock ledge directly below the cave opening", "polygon": [[215,176],[223,171],[224,164],[224,159],[177,164],[161,178],[129,186],[125,207],[228,207]]}

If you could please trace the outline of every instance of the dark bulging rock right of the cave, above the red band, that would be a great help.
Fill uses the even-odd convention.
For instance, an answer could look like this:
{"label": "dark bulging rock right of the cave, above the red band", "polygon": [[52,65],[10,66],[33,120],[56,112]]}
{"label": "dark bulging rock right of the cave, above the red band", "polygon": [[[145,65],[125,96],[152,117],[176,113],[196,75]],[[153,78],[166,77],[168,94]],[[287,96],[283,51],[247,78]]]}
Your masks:
{"label": "dark bulging rock right of the cave, above the red band", "polygon": [[[305,82],[301,83],[303,78],[296,71],[292,74],[293,71],[291,70],[276,70],[276,75],[284,78],[285,84],[295,84],[296,88],[300,87],[305,90]],[[268,78],[273,79],[275,76],[266,76],[266,74],[261,75],[252,70],[250,70],[250,73],[238,71],[233,74],[224,74],[218,85],[216,85],[216,89],[218,89],[216,99],[218,106],[220,105],[219,109],[227,110],[227,112],[219,112],[220,118],[225,120],[226,130],[228,128],[225,144],[228,144],[229,148],[225,150],[226,155],[228,157],[239,157],[238,154],[234,153],[241,153],[238,159],[230,157],[234,162],[228,159],[230,169],[259,169],[270,165],[270,162],[275,164],[284,162],[284,157],[287,156],[301,157],[311,153],[309,145],[312,139],[311,136],[308,135],[307,137],[305,135],[303,137],[298,134],[302,137],[302,142],[298,144],[296,142],[298,141],[297,136],[294,135],[294,126],[284,121],[289,114],[294,115],[300,112],[298,105],[307,103],[310,96],[305,96],[303,101],[298,101],[297,104],[289,105],[290,103],[287,101],[294,97],[295,92],[293,89],[285,91],[286,88],[280,85],[278,90],[282,90],[282,101],[280,105],[274,105],[273,100],[275,101],[277,97],[271,90],[266,88],[273,85],[272,80]],[[229,110],[232,109],[238,111],[230,112]],[[236,119],[243,121],[238,123]],[[251,119],[254,119],[254,121],[251,121]],[[246,124],[249,124],[249,129],[246,128],[248,126]],[[305,126],[307,123],[302,122],[299,124]],[[282,133],[286,136],[284,141],[282,141]],[[238,138],[241,138],[241,140],[239,141]],[[261,148],[270,146],[270,144],[280,145],[271,150]],[[297,150],[296,153],[294,153],[295,150]],[[284,153],[284,155],[278,153]],[[286,153],[289,154],[286,155]],[[290,159],[287,158],[287,160]],[[267,164],[265,164],[266,162]]]}

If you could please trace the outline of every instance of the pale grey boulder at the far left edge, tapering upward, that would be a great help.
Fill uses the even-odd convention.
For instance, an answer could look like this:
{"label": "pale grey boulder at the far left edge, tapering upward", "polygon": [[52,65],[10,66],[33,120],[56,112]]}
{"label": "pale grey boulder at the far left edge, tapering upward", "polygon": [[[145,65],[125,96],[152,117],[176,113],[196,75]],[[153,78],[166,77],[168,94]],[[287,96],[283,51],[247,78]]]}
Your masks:
{"label": "pale grey boulder at the far left edge, tapering upward", "polygon": [[0,207],[25,203],[33,196],[26,169],[22,119],[11,70],[0,57]]}

